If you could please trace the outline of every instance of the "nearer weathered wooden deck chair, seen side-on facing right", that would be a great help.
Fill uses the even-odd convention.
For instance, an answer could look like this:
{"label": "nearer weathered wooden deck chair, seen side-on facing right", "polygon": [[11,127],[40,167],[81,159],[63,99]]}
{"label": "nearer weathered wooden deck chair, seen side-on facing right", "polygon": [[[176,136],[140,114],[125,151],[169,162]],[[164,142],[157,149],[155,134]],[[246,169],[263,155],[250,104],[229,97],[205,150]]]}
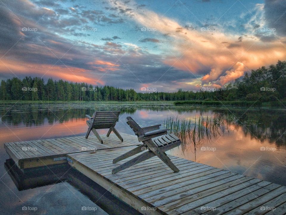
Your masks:
{"label": "nearer weathered wooden deck chair, seen side-on facing right", "polygon": [[126,168],[129,168],[144,160],[147,160],[153,156],[158,156],[158,158],[160,158],[165,164],[167,164],[168,167],[170,167],[174,172],[179,172],[179,169],[171,162],[170,158],[165,153],[165,151],[168,151],[172,148],[181,145],[181,140],[178,137],[176,137],[174,134],[167,134],[167,131],[169,129],[158,130],[160,129],[160,125],[153,125],[141,128],[130,116],[126,118],[126,122],[138,136],[138,141],[143,142],[143,145],[140,145],[130,150],[129,152],[120,155],[113,160],[113,163],[117,163],[142,151],[147,151],[114,168],[112,170],[113,174],[122,171]]}

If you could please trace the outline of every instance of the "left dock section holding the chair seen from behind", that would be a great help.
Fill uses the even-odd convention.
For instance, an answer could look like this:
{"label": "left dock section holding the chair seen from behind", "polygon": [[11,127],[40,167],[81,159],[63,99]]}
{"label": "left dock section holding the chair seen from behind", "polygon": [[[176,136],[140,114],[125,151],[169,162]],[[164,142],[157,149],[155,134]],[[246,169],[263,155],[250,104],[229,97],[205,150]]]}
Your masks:
{"label": "left dock section holding the chair seen from behind", "polygon": [[[103,144],[91,135],[65,137],[56,139],[32,140],[4,143],[4,148],[19,169],[61,164],[66,161],[66,154],[83,151],[95,151],[122,146],[139,145],[136,136],[122,134],[124,142],[112,133],[109,137],[102,135]],[[136,142],[137,141],[137,142]]]}

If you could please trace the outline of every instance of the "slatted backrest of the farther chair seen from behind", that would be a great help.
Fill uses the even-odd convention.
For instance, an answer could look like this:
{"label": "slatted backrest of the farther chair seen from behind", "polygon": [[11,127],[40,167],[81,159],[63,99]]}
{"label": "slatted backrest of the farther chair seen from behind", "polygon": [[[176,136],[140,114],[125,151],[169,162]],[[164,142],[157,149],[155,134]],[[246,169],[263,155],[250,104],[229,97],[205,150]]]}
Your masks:
{"label": "slatted backrest of the farther chair seen from behind", "polygon": [[93,115],[94,128],[110,128],[119,120],[120,111],[96,111]]}

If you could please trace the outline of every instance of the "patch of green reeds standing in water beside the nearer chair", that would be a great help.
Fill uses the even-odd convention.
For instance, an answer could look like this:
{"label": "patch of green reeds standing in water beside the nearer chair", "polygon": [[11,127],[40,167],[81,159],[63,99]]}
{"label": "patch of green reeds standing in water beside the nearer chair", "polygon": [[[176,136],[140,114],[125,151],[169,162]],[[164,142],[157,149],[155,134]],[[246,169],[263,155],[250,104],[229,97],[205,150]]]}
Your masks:
{"label": "patch of green reeds standing in water beside the nearer chair", "polygon": [[164,120],[164,128],[169,129],[182,141],[182,150],[188,143],[197,144],[217,138],[221,133],[229,132],[228,119],[221,117],[199,116],[189,117],[169,117]]}

